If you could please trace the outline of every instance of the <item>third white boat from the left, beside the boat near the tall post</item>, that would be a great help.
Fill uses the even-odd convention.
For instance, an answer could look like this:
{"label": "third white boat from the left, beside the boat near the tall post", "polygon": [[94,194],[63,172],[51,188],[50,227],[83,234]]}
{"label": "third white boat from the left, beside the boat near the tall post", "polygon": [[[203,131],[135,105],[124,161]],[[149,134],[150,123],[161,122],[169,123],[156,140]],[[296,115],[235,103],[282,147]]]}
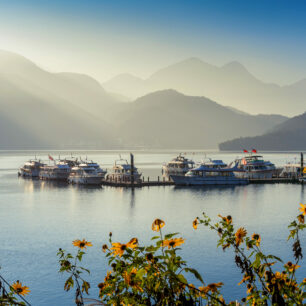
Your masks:
{"label": "third white boat from the left, beside the boat near the tall post", "polygon": [[68,177],[68,183],[81,184],[81,185],[101,185],[105,176],[105,171],[100,166],[93,167],[92,164],[96,163],[81,163],[76,167],[73,167]]}

